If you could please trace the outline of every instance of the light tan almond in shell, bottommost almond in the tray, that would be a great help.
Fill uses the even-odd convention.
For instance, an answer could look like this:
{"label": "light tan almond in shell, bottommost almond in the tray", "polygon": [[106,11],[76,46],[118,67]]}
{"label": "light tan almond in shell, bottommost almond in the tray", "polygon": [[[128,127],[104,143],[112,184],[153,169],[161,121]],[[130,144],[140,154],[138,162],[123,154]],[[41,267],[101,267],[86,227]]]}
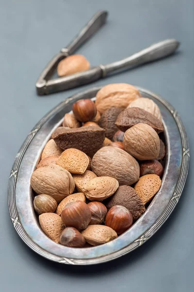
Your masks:
{"label": "light tan almond in shell, bottommost almond in the tray", "polygon": [[81,234],[86,242],[94,246],[109,242],[117,237],[112,228],[104,225],[89,225]]}

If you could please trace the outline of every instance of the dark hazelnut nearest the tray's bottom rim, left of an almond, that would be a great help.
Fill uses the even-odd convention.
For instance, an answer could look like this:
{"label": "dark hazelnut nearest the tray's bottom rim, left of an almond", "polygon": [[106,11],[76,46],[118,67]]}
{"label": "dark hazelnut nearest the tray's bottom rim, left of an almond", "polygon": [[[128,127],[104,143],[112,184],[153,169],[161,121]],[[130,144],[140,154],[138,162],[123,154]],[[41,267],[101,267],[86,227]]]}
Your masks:
{"label": "dark hazelnut nearest the tray's bottom rim, left of an almond", "polygon": [[85,239],[74,227],[66,227],[60,236],[59,243],[69,247],[83,247]]}

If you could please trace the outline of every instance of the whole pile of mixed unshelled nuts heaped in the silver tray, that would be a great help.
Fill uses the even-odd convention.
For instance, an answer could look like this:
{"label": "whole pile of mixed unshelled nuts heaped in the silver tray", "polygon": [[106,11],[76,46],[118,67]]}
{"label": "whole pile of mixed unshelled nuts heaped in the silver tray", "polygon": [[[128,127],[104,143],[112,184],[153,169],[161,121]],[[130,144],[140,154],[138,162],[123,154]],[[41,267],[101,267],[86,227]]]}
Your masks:
{"label": "whole pile of mixed unshelled nuts heaped in the silver tray", "polygon": [[69,247],[121,235],[161,186],[165,146],[159,107],[129,84],[109,84],[96,102],[78,100],[32,173],[45,234]]}

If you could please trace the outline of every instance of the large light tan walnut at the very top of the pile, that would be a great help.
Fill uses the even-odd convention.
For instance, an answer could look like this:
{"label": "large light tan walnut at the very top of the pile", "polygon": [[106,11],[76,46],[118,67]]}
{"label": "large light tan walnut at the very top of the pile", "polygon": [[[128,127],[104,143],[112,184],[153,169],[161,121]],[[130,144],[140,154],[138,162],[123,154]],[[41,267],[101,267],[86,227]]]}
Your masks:
{"label": "large light tan walnut at the very top of the pile", "polygon": [[108,84],[97,92],[96,107],[100,113],[110,107],[124,110],[129,103],[140,97],[137,88],[126,83]]}

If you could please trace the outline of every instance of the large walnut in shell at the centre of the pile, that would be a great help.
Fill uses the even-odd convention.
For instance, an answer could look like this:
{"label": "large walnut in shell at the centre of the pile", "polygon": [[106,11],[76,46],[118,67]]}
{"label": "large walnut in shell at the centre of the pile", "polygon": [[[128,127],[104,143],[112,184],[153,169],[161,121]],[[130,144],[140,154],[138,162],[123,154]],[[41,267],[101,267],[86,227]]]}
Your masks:
{"label": "large walnut in shell at the centre of the pile", "polygon": [[107,146],[97,151],[92,159],[92,170],[97,176],[115,178],[119,185],[130,185],[139,180],[138,162],[126,151]]}

